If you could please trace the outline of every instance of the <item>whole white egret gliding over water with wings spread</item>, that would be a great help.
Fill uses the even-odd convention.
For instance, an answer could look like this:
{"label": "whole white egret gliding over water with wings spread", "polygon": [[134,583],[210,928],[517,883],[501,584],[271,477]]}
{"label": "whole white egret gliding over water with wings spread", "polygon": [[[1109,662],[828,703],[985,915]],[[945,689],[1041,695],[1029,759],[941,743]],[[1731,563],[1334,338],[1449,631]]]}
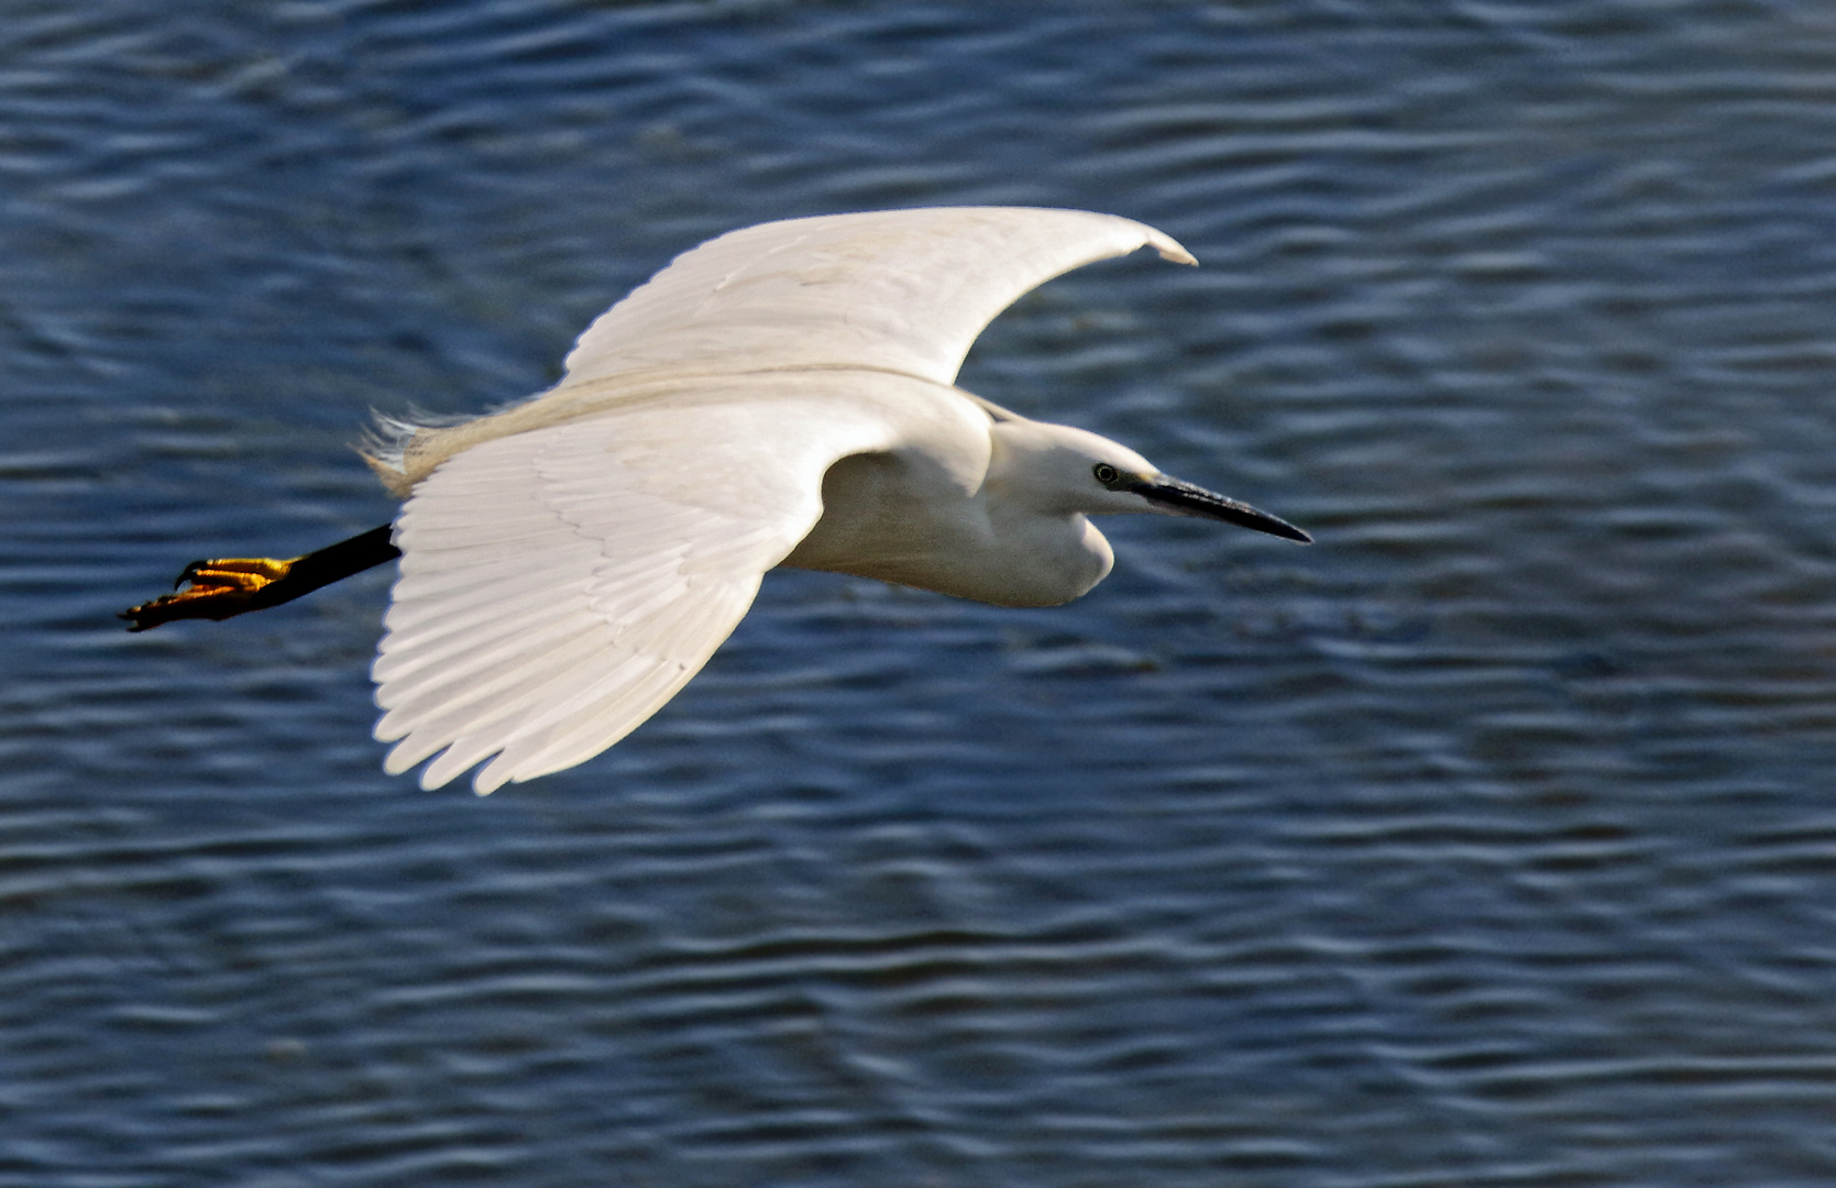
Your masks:
{"label": "whole white egret gliding over water with wings spread", "polygon": [[[395,426],[406,505],[292,560],[195,562],[132,630],[274,606],[400,556],[373,668],[386,768],[479,795],[560,771],[668,701],[773,566],[999,606],[1109,573],[1087,516],[1204,516],[1309,536],[1094,433],[953,386],[1021,294],[1151,246],[1114,215],[940,207],[745,228],[602,314],[558,386],[457,426]],[[488,762],[487,762],[488,760]]]}

